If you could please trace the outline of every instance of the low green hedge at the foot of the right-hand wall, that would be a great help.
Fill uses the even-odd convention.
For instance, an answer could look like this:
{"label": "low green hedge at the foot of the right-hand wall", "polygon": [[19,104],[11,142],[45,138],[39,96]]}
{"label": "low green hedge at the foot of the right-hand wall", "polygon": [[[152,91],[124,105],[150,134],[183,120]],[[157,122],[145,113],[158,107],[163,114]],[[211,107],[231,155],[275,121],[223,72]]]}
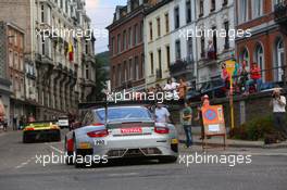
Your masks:
{"label": "low green hedge at the foot of the right-hand wall", "polygon": [[272,116],[253,118],[230,130],[230,138],[240,140],[263,140],[265,135],[275,134]]}

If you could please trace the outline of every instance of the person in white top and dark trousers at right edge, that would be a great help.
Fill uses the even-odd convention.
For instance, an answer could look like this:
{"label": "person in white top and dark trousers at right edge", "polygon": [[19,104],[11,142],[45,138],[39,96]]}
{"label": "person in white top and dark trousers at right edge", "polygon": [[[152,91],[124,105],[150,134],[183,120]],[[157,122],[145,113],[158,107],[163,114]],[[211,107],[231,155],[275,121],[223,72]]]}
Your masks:
{"label": "person in white top and dark trousers at right edge", "polygon": [[274,126],[284,140],[287,139],[287,128],[286,128],[286,98],[280,94],[280,88],[274,89],[272,93],[272,100],[270,105],[273,107],[274,115]]}

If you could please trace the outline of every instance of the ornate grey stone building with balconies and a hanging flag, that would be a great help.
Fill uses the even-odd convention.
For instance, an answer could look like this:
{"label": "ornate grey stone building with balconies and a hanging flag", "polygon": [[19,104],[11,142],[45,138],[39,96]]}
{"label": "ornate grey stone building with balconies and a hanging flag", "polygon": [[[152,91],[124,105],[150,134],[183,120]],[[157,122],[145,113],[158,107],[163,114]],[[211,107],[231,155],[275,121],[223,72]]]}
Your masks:
{"label": "ornate grey stone building with balconies and a hanging flag", "polygon": [[[75,112],[78,102],[87,101],[96,78],[96,39],[89,33],[85,1],[1,3],[0,17],[16,23],[25,31],[26,115],[33,113],[37,119],[51,119]],[[82,30],[85,36],[64,34],[67,30]]]}

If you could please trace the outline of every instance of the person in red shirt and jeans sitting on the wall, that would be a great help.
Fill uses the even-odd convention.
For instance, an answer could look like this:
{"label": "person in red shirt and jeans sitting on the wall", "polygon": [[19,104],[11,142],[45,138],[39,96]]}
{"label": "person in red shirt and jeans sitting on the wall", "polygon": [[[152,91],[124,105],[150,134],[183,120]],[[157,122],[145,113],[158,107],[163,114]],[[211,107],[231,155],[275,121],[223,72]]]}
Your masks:
{"label": "person in red shirt and jeans sitting on the wall", "polygon": [[249,87],[254,84],[257,86],[257,91],[258,92],[261,91],[262,78],[261,78],[261,69],[258,63],[252,63],[252,67],[250,69],[250,80],[248,80],[246,84],[246,93],[249,93]]}

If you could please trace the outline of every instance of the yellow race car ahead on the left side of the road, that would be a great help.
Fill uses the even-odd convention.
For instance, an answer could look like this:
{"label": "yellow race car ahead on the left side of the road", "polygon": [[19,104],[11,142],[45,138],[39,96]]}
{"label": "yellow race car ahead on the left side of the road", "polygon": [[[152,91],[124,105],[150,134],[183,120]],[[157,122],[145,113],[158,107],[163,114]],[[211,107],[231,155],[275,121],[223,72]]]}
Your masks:
{"label": "yellow race car ahead on the left side of the road", "polygon": [[23,129],[23,142],[61,141],[60,127],[54,121],[28,123]]}

